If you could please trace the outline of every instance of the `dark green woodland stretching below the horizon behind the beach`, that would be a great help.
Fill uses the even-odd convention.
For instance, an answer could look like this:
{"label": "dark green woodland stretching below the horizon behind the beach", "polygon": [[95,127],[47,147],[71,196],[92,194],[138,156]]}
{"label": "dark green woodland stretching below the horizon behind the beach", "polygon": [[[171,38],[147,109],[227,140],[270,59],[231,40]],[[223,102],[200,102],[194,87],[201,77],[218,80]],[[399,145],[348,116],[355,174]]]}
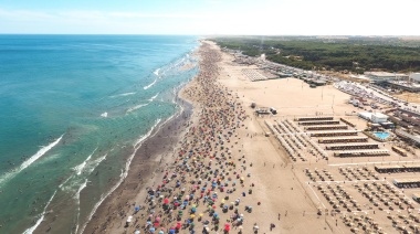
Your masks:
{"label": "dark green woodland stretching below the horizon behind the beach", "polygon": [[222,47],[304,70],[420,71],[420,41],[396,38],[317,39],[304,36],[217,38]]}

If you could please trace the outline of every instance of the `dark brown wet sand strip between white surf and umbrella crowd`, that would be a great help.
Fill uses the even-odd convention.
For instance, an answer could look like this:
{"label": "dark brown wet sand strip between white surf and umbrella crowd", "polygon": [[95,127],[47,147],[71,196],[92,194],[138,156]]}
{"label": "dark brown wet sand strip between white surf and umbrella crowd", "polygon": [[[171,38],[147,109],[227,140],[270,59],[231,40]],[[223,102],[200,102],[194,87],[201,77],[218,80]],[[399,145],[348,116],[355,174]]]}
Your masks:
{"label": "dark brown wet sand strip between white surf and umbrella crowd", "polygon": [[135,198],[145,195],[146,187],[154,185],[164,173],[164,168],[172,160],[174,150],[186,123],[192,113],[191,104],[179,99],[182,111],[156,129],[133,158],[128,174],[124,182],[98,206],[84,233],[112,233],[108,230],[124,226],[126,210],[141,205],[143,200]]}

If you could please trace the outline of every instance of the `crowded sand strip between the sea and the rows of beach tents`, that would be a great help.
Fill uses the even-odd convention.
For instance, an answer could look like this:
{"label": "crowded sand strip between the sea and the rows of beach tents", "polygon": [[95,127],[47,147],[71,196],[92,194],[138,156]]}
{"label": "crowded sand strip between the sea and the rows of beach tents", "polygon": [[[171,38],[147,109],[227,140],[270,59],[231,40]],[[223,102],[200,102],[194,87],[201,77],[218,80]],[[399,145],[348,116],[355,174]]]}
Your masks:
{"label": "crowded sand strip between the sea and the rows of beach tents", "polygon": [[[333,232],[319,222],[316,205],[295,179],[285,152],[264,136],[253,117],[249,104],[261,95],[246,85],[255,83],[230,78],[237,71],[228,65],[230,57],[212,42],[203,42],[199,53],[200,74],[180,94],[193,106],[192,118],[183,124],[188,131],[172,131],[181,134],[183,140],[168,147],[168,151],[149,155],[141,147],[128,177],[99,206],[84,233],[134,233],[135,230],[147,233],[148,220],[151,226],[165,233],[170,227],[180,233],[201,232],[206,227],[209,233],[224,228],[233,233],[250,233],[255,228],[261,233],[302,233],[308,225],[317,233]],[[270,95],[263,100],[269,99]],[[167,128],[164,126],[161,130]],[[157,138],[150,138],[154,139]],[[146,141],[145,145],[153,143]],[[139,160],[145,156],[148,160]],[[165,164],[159,167],[160,160]],[[183,172],[187,164],[189,170]],[[149,181],[148,177],[151,177]],[[178,203],[186,205],[180,209],[175,205]],[[193,219],[190,216],[192,208],[196,210]],[[126,223],[129,216],[133,220]],[[158,224],[154,223],[156,219]]]}

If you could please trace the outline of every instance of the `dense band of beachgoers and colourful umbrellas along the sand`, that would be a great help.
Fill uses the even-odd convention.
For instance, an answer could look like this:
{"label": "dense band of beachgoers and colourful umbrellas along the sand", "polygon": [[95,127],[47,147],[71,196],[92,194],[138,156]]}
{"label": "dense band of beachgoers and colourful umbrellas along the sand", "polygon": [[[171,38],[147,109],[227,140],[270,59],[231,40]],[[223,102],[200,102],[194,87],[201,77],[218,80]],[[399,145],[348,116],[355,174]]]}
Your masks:
{"label": "dense band of beachgoers and colourful umbrellas along the sand", "polygon": [[[127,233],[245,232],[244,213],[260,204],[243,202],[255,185],[238,135],[245,128],[246,114],[217,81],[220,61],[220,52],[203,43],[200,73],[183,91],[183,97],[195,105],[188,131],[161,182],[147,188],[147,196],[128,206],[132,211],[124,216]],[[255,223],[251,232],[259,228]]]}

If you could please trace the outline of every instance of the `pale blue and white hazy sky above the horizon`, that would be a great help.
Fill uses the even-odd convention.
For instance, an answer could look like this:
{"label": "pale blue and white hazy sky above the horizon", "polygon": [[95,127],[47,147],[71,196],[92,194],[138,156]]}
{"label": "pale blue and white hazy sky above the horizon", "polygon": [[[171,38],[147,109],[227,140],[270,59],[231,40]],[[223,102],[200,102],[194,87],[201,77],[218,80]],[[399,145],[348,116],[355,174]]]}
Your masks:
{"label": "pale blue and white hazy sky above the horizon", "polygon": [[0,33],[420,35],[420,0],[0,0]]}

